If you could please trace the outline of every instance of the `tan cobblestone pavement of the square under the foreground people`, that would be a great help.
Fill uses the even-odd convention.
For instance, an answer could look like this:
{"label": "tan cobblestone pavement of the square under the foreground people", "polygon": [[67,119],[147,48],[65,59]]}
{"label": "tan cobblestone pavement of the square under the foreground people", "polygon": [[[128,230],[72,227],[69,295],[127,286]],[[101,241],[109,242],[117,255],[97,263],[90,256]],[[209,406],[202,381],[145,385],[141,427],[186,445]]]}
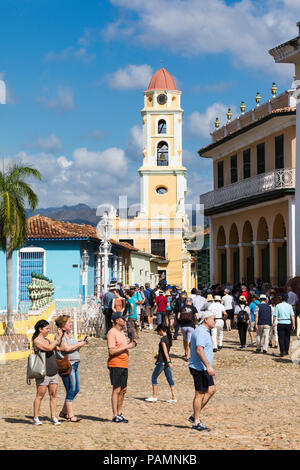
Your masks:
{"label": "tan cobblestone pavement of the square under the foreground people", "polygon": [[[295,337],[292,338],[295,341]],[[193,381],[183,360],[181,337],[171,350],[177,404],[169,404],[169,387],[159,377],[159,401],[151,394],[153,356],[159,337],[140,335],[130,353],[128,394],[124,414],[128,424],[111,422],[111,386],[106,368],[107,349],[102,339],[91,339],[81,351],[81,392],[75,400],[80,423],[49,421],[45,396],[40,418],[32,425],[34,381],[26,384],[27,360],[0,365],[1,449],[298,449],[300,442],[299,365],[290,358],[255,354],[255,347],[238,350],[237,331],[224,332],[224,347],[215,354],[217,393],[203,412],[210,432],[199,433],[187,418],[192,412]],[[291,348],[292,349],[292,348]],[[276,355],[276,356],[275,356]],[[60,383],[58,410],[64,401]]]}

